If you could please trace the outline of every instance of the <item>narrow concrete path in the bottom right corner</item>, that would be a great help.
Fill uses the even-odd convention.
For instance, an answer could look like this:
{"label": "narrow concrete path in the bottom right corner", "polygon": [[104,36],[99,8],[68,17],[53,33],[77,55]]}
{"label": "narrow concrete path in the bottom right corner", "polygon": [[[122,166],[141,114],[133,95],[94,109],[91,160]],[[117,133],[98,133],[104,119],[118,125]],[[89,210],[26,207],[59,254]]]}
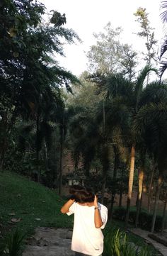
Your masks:
{"label": "narrow concrete path in the bottom right corner", "polygon": [[142,230],[141,228],[131,228],[129,229],[129,231],[134,233],[135,235],[139,235],[141,238],[144,238],[144,240],[146,240],[146,243],[151,243],[151,245],[153,245],[156,250],[159,250],[159,252],[161,252],[161,255],[167,256],[167,247],[149,238],[148,235],[151,234],[151,232]]}

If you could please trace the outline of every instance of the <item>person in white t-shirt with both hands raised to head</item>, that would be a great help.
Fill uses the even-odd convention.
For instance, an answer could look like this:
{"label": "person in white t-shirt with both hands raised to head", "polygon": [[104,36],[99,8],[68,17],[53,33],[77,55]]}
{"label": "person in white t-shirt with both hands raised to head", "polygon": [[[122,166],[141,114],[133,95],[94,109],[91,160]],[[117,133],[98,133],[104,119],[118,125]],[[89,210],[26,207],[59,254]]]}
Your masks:
{"label": "person in white t-shirt with both hands raised to head", "polygon": [[108,221],[108,208],[98,202],[90,188],[74,185],[69,192],[71,198],[62,206],[61,212],[74,213],[71,250],[77,256],[102,255],[102,229]]}

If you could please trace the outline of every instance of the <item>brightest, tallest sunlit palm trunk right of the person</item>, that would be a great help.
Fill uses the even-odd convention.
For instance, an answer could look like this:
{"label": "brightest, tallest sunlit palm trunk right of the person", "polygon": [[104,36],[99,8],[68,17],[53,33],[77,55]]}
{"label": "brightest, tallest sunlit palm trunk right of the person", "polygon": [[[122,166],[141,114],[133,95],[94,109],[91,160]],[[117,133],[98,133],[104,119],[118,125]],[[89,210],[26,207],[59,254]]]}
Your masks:
{"label": "brightest, tallest sunlit palm trunk right of the person", "polygon": [[128,194],[127,194],[127,213],[125,218],[125,228],[127,228],[129,221],[129,209],[132,199],[132,188],[134,181],[134,160],[135,160],[135,145],[132,145],[131,148],[131,159],[130,159],[130,169],[129,169],[129,182],[128,182]]}

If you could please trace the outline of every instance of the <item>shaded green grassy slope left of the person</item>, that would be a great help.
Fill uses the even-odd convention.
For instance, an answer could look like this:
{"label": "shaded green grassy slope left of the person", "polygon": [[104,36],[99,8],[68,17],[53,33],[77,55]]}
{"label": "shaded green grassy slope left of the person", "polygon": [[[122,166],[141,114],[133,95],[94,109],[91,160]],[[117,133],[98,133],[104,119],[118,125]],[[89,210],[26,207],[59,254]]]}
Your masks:
{"label": "shaded green grassy slope left of the person", "polygon": [[0,231],[21,228],[32,233],[37,226],[71,227],[72,218],[60,213],[64,204],[57,193],[11,172],[0,173]]}

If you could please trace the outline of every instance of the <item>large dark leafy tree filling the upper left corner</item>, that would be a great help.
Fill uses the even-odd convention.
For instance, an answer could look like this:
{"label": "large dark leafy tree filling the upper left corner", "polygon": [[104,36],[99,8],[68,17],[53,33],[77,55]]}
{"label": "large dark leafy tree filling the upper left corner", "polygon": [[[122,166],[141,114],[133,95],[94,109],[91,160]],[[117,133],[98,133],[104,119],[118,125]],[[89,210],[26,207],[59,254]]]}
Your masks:
{"label": "large dark leafy tree filling the upper left corner", "polygon": [[16,117],[23,116],[23,112],[25,118],[35,117],[38,130],[41,109],[52,95],[48,91],[59,90],[62,85],[70,89],[69,84],[77,81],[73,74],[59,67],[53,53],[64,54],[61,38],[74,43],[74,38],[79,37],[62,27],[66,19],[58,12],[52,14],[50,24],[41,26],[44,12],[45,6],[37,1],[2,1],[0,6],[0,97],[6,134],[1,141],[1,163]]}

